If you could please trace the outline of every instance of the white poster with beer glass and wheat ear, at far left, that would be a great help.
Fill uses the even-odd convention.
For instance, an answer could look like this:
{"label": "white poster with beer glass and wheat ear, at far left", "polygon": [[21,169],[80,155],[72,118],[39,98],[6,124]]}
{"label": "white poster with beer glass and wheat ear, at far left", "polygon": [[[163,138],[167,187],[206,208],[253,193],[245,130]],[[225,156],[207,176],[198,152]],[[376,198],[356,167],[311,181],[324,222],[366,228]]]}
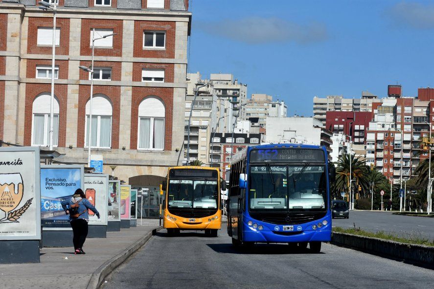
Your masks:
{"label": "white poster with beer glass and wheat ear, at far left", "polygon": [[0,148],[0,240],[40,240],[39,147]]}

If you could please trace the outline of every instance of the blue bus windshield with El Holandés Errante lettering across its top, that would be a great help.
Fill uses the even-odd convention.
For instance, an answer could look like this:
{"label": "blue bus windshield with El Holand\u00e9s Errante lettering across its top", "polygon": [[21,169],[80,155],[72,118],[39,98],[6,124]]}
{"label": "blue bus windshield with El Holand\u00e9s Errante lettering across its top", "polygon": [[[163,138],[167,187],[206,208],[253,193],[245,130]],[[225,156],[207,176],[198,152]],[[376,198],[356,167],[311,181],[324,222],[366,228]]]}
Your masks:
{"label": "blue bus windshield with El Holand\u00e9s Errante lettering across its top", "polygon": [[249,180],[251,211],[325,211],[324,165],[252,165]]}

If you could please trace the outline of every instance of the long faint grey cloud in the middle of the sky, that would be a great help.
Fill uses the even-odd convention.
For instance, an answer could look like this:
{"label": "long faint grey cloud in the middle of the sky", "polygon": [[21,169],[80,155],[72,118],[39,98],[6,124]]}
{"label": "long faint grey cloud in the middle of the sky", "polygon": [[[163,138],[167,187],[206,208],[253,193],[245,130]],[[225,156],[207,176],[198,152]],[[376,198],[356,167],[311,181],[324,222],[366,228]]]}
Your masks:
{"label": "long faint grey cloud in the middle of the sky", "polygon": [[309,44],[328,38],[321,23],[300,25],[280,18],[249,17],[219,22],[200,22],[195,27],[205,32],[249,44],[296,42]]}

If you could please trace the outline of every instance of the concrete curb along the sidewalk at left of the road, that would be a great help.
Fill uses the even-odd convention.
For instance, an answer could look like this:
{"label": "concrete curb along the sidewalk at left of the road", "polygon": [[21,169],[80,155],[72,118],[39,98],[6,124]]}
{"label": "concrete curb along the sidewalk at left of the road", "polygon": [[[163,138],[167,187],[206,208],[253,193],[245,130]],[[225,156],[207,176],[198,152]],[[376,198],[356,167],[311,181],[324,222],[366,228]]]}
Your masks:
{"label": "concrete curb along the sidewalk at left of the road", "polygon": [[140,249],[141,246],[145,245],[149,239],[155,233],[160,231],[162,229],[162,226],[159,226],[155,229],[153,229],[151,232],[147,233],[145,236],[143,236],[141,239],[137,240],[136,243],[130,245],[125,250],[111,258],[110,260],[107,260],[104,262],[103,265],[98,267],[95,272],[92,273],[91,280],[89,280],[87,289],[98,289],[104,279],[120,264],[125,262],[125,260],[128,259],[134,252],[136,252],[138,249]]}

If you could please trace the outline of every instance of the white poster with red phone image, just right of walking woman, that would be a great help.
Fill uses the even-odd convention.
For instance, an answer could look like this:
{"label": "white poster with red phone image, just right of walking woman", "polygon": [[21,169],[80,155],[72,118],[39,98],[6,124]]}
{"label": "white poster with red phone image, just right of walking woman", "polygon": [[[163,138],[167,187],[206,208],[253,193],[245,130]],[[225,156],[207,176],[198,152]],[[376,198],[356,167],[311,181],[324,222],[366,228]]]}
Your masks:
{"label": "white poster with red phone image, just right of walking woman", "polygon": [[98,210],[101,217],[98,219],[91,210],[88,210],[89,224],[107,225],[109,175],[85,174],[83,191],[86,194],[86,199]]}

